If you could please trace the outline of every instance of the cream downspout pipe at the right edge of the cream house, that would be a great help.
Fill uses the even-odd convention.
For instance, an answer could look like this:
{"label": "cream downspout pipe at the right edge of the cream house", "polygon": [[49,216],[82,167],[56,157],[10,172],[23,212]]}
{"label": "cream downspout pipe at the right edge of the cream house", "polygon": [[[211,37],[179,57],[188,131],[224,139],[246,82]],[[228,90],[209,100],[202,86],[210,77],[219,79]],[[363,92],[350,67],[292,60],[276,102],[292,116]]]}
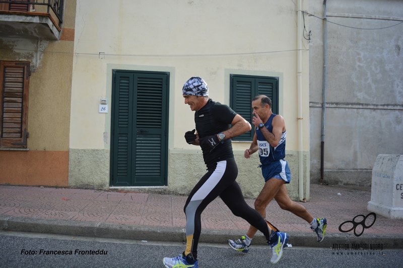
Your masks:
{"label": "cream downspout pipe at the right edge of the cream house", "polygon": [[304,169],[302,144],[302,0],[297,0],[297,91],[298,91],[298,196],[304,198]]}

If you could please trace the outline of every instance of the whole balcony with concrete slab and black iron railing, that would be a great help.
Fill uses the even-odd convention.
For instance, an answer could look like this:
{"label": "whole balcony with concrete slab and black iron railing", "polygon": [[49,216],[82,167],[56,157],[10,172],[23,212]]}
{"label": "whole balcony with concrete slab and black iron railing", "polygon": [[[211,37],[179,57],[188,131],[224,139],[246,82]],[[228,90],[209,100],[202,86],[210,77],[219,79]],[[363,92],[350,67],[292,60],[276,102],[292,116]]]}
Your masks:
{"label": "whole balcony with concrete slab and black iron railing", "polygon": [[0,38],[57,40],[64,0],[0,0]]}

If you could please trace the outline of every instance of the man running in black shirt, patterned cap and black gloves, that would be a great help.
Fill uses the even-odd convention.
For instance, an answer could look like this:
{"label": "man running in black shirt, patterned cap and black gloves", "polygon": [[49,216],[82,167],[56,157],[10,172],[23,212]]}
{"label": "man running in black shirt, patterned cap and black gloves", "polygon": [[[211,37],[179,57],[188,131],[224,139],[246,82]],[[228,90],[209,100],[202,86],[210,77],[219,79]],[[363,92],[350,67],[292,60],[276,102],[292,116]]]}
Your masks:
{"label": "man running in black shirt, patterned cap and black gloves", "polygon": [[194,186],[185,203],[186,249],[177,257],[165,257],[165,267],[198,267],[197,244],[201,231],[201,212],[218,196],[235,216],[245,219],[264,234],[267,244],[272,247],[271,262],[278,262],[289,235],[272,230],[259,212],[246,204],[241,189],[235,182],[238,168],[231,138],[249,131],[250,124],[227,105],[209,99],[207,83],[200,77],[187,80],[182,94],[185,104],[195,111],[194,122],[197,129],[196,134],[195,129],[187,131],[185,139],[188,144],[201,147],[208,172]]}

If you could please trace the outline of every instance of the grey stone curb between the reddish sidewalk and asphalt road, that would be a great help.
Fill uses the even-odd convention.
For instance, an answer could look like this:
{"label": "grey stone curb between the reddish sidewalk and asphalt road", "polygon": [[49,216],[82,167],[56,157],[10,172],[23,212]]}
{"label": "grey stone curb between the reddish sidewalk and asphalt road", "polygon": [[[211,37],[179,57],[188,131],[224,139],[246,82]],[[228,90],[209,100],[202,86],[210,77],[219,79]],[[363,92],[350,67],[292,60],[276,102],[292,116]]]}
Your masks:
{"label": "grey stone curb between the reddish sidewalk and asphalt road", "polygon": [[[185,242],[185,229],[175,227],[123,225],[113,223],[54,220],[12,217],[0,215],[0,229],[4,231],[32,232],[61,234],[71,236],[90,236],[130,240],[150,240],[164,242]],[[246,231],[246,230],[245,230]],[[213,230],[202,229],[199,242],[225,244],[227,239],[234,239],[243,235],[239,230]],[[326,239],[318,243],[316,235],[312,232],[290,232],[289,243],[293,246],[339,248],[343,244],[382,244],[383,249],[403,248],[403,235],[393,234],[363,234],[360,237],[354,234],[326,235]],[[261,233],[253,238],[253,244],[266,245]]]}

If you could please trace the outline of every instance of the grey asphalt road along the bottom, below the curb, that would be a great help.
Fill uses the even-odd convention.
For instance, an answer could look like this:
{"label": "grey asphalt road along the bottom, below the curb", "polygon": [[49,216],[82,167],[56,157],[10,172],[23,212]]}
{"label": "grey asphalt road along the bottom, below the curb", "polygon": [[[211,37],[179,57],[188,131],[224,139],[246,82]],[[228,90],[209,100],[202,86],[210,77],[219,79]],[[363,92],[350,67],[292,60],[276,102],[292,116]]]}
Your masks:
{"label": "grey asphalt road along the bottom, below the curb", "polygon": [[[0,231],[0,267],[163,268],[163,257],[177,256],[184,248],[183,244],[170,242]],[[60,254],[47,254],[51,250],[60,250]],[[270,263],[271,256],[265,246],[253,246],[247,254],[224,244],[199,244],[198,250],[201,268],[401,267],[403,250],[291,247],[285,249],[277,264]]]}

